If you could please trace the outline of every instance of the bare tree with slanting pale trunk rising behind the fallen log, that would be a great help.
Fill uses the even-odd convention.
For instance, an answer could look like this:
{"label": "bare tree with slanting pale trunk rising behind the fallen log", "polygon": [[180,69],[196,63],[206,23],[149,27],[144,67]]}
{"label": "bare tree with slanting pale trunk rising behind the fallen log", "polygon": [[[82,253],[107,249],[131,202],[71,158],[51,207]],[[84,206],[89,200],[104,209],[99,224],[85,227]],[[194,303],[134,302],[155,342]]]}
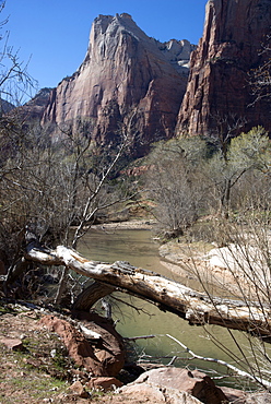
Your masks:
{"label": "bare tree with slanting pale trunk rising behind the fallen log", "polygon": [[[64,133],[64,132],[63,132]],[[62,156],[60,161],[61,187],[67,201],[66,209],[61,212],[64,217],[64,245],[76,248],[78,241],[90,230],[99,212],[121,203],[131,198],[131,190],[120,191],[117,187],[110,187],[110,176],[127,147],[127,138],[110,151],[105,150],[96,153],[90,133],[67,132],[66,147],[69,150],[68,159]],[[64,146],[64,144],[63,144]],[[93,155],[96,158],[93,161]],[[105,158],[106,155],[106,158]],[[96,159],[103,161],[98,164]],[[101,162],[99,162],[101,163]],[[73,226],[75,229],[71,228]],[[56,302],[60,301],[63,290],[67,288],[68,268],[63,268]]]}

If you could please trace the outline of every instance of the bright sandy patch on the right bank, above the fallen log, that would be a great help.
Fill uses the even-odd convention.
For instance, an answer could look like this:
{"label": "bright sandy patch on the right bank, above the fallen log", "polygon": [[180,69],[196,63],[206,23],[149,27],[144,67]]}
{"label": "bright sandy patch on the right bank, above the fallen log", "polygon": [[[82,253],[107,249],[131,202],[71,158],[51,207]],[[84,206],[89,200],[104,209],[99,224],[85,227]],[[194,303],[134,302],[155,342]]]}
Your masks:
{"label": "bright sandy patch on the right bank, above the fallen log", "polygon": [[[212,247],[212,246],[211,246]],[[161,246],[160,254],[164,258],[162,261],[170,272],[178,274],[186,281],[186,286],[197,290],[208,290],[213,295],[228,298],[244,298],[245,295],[254,295],[254,284],[243,271],[240,259],[234,262],[228,251],[227,254],[222,252],[223,249],[197,248],[196,246],[178,245],[170,241]],[[244,262],[244,266],[246,262]]]}

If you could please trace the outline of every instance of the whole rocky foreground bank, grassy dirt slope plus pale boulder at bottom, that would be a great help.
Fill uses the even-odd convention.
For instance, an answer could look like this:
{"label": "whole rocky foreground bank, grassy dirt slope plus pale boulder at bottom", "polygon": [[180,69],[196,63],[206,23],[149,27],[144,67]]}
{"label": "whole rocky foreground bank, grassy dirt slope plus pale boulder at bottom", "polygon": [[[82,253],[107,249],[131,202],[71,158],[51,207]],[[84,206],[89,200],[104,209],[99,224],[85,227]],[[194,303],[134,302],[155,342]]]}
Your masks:
{"label": "whole rocky foreground bank, grassy dirt slope plus pale boulder at bottom", "polygon": [[123,373],[122,382],[121,376],[90,376],[68,355],[70,346],[59,331],[44,326],[45,318],[57,316],[68,319],[30,304],[0,301],[0,404],[271,403],[268,393],[221,390],[204,373],[172,367],[143,372],[116,389]]}

